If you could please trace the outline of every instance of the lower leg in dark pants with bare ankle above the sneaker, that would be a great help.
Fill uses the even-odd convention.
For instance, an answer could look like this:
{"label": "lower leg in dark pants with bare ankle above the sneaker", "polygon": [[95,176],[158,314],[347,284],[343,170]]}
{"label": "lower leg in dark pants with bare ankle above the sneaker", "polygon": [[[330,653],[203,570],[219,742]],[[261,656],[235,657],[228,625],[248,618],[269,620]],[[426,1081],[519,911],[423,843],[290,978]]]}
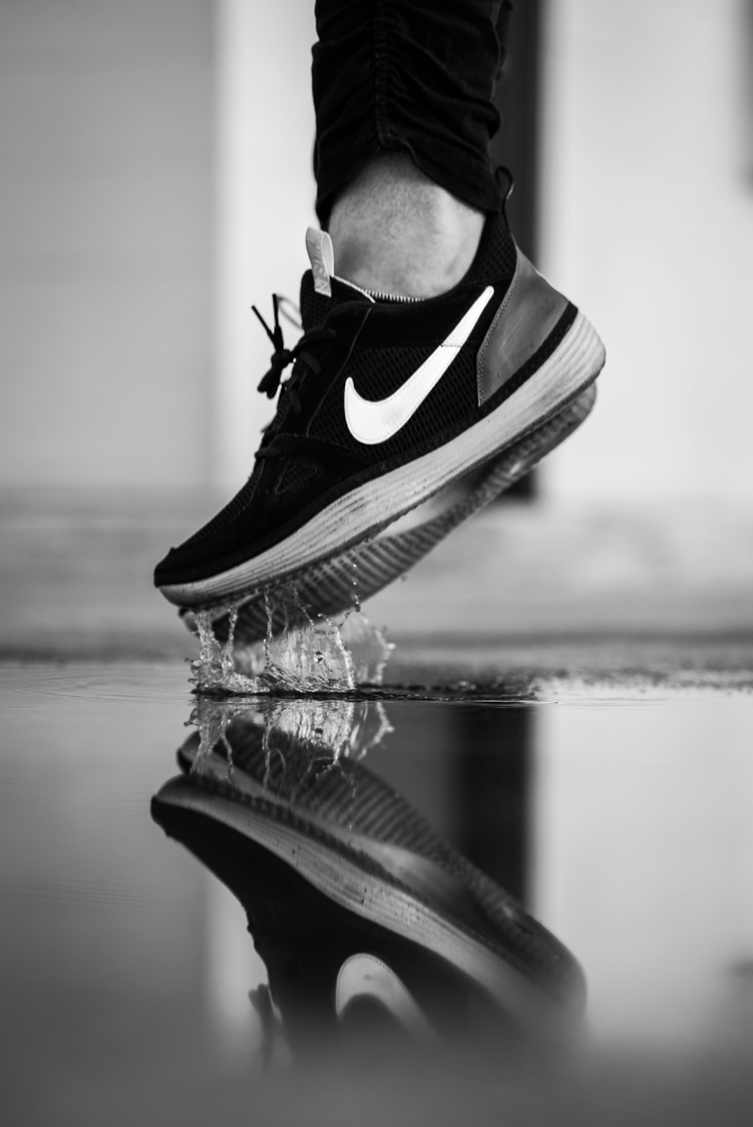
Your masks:
{"label": "lower leg in dark pants with bare ankle above the sneaker", "polygon": [[317,208],[339,273],[370,290],[450,290],[498,212],[489,140],[507,5],[319,0]]}

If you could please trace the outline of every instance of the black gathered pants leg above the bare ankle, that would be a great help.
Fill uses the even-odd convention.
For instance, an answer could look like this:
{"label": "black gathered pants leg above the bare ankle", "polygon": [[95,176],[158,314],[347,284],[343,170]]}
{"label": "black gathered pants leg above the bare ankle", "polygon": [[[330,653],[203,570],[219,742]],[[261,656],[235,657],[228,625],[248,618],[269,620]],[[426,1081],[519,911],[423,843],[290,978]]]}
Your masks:
{"label": "black gathered pants leg above the bare ankle", "polygon": [[317,0],[317,214],[371,158],[407,151],[481,211],[499,211],[489,141],[510,0]]}

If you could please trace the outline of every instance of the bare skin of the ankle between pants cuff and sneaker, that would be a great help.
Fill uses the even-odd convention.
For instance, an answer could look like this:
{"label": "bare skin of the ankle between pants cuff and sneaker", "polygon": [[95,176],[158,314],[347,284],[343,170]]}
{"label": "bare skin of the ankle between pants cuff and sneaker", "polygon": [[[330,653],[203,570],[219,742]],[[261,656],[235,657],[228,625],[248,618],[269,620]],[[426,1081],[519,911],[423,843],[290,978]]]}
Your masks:
{"label": "bare skin of the ankle between pants cuff and sneaker", "polygon": [[335,202],[335,270],[366,290],[434,298],[468,273],[484,222],[407,154],[382,153]]}

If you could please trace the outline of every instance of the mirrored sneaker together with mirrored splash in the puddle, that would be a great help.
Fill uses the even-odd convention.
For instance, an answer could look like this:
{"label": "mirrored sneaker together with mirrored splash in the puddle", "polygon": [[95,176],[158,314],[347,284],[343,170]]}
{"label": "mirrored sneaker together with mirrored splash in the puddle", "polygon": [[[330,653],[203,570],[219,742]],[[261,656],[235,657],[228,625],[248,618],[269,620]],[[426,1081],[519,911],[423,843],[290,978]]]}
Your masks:
{"label": "mirrored sneaker together with mirrored splash in the puddle", "polygon": [[282,1028],[294,1053],[363,1027],[572,1030],[584,984],[569,952],[366,766],[390,730],[379,702],[202,700],[195,720],[152,814],[246,909],[267,1056]]}

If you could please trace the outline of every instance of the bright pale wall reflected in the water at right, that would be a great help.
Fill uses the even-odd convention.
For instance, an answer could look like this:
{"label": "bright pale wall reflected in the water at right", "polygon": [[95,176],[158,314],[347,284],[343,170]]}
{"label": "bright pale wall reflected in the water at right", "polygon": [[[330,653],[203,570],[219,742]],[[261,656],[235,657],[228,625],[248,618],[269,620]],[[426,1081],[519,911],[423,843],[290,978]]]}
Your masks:
{"label": "bright pale wall reflected in the water at right", "polygon": [[534,911],[599,1040],[708,1044],[753,950],[753,709],[623,686],[537,712]]}

